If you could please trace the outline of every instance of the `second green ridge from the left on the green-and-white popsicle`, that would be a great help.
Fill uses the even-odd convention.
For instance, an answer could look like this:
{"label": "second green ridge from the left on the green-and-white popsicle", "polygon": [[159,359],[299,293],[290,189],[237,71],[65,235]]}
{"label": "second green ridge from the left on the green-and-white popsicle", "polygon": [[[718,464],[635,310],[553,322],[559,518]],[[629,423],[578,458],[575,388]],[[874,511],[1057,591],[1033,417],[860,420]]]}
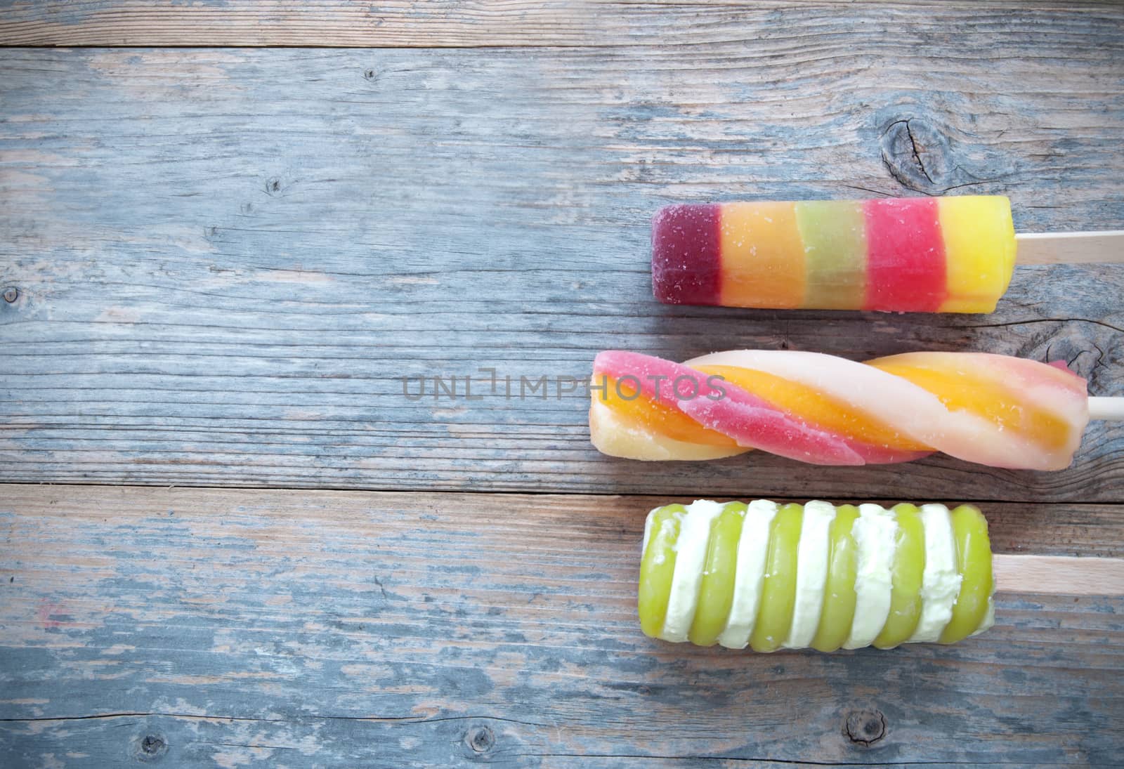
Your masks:
{"label": "second green ridge from the left on the green-and-white popsicle", "polygon": [[710,522],[699,600],[688,639],[700,646],[713,646],[726,628],[729,606],[734,603],[734,575],[737,571],[737,542],[742,536],[745,505],[728,503]]}

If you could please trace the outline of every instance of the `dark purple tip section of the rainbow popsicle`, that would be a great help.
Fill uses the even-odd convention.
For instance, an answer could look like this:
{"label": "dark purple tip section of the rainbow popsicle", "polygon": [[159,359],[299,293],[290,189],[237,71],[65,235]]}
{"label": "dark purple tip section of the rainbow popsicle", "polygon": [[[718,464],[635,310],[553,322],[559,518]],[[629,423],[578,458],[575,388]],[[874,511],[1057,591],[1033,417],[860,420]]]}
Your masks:
{"label": "dark purple tip section of the rainbow popsicle", "polygon": [[652,219],[652,292],[668,305],[717,305],[722,290],[718,203],[664,206]]}

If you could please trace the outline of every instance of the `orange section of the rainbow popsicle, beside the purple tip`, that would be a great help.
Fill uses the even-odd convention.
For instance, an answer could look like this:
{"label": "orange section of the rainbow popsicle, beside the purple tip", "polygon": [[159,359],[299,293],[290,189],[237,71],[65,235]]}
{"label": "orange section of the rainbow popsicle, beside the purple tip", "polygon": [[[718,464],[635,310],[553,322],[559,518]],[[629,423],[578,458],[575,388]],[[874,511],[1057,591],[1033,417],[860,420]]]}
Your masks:
{"label": "orange section of the rainbow popsicle, beside the purple tip", "polygon": [[789,309],[804,304],[804,243],[792,202],[723,203],[719,305]]}

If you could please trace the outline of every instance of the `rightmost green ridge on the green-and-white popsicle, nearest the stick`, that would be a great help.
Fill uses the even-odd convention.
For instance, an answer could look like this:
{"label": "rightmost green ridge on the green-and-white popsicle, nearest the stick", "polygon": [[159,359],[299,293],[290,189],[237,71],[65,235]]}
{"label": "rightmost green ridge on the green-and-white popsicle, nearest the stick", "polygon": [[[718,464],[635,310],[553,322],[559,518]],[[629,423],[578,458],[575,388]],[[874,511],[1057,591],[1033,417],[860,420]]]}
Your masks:
{"label": "rightmost green ridge on the green-and-white popsicle, nearest the stick", "polygon": [[991,596],[991,541],[984,514],[971,505],[961,505],[951,516],[952,535],[957,541],[957,570],[963,581],[952,607],[952,619],[941,633],[941,643],[955,643],[976,632],[984,622]]}

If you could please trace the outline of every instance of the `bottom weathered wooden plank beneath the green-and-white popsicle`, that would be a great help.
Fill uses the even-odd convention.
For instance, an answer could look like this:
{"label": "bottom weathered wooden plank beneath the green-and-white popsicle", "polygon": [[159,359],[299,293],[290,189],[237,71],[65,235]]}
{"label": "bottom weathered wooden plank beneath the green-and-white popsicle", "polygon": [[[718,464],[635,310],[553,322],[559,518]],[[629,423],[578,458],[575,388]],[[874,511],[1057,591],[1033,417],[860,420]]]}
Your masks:
{"label": "bottom weathered wooden plank beneath the green-and-white popsicle", "polygon": [[[1118,756],[1120,598],[1004,596],[953,646],[755,655],[641,634],[651,497],[3,491],[4,766]],[[1000,550],[1124,554],[1124,506],[996,508]]]}

